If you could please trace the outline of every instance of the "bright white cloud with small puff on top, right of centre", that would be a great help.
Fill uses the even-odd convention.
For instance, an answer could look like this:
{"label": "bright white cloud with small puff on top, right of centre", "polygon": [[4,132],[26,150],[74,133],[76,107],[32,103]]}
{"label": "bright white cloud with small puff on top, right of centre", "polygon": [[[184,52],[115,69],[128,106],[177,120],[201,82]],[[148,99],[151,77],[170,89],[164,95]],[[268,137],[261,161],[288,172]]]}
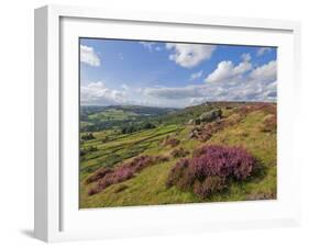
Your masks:
{"label": "bright white cloud with small puff on top, right of centre", "polygon": [[242,59],[243,60],[236,66],[230,60],[219,63],[216,70],[206,78],[206,82],[240,80],[243,74],[252,69],[250,54],[243,54]]}

